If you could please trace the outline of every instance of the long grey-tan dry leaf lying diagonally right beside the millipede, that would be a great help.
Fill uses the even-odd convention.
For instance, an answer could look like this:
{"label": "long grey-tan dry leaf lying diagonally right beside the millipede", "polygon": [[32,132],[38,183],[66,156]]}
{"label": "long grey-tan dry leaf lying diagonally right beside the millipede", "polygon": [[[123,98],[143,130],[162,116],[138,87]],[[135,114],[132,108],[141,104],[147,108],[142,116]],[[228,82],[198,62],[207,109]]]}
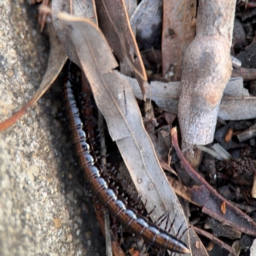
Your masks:
{"label": "long grey-tan dry leaf lying diagonally right beside the millipede", "polygon": [[[170,211],[172,218],[176,216],[172,235],[178,229],[182,234],[187,228],[183,210],[160,168],[129,84],[119,72],[113,71],[117,63],[106,39],[90,20],[64,14],[59,18],[67,23],[97,107],[107,121],[109,133],[119,147],[138,193],[144,202],[147,200],[148,211],[156,206],[153,220]],[[161,227],[165,228],[165,224]],[[182,239],[189,245],[187,233]]]}

